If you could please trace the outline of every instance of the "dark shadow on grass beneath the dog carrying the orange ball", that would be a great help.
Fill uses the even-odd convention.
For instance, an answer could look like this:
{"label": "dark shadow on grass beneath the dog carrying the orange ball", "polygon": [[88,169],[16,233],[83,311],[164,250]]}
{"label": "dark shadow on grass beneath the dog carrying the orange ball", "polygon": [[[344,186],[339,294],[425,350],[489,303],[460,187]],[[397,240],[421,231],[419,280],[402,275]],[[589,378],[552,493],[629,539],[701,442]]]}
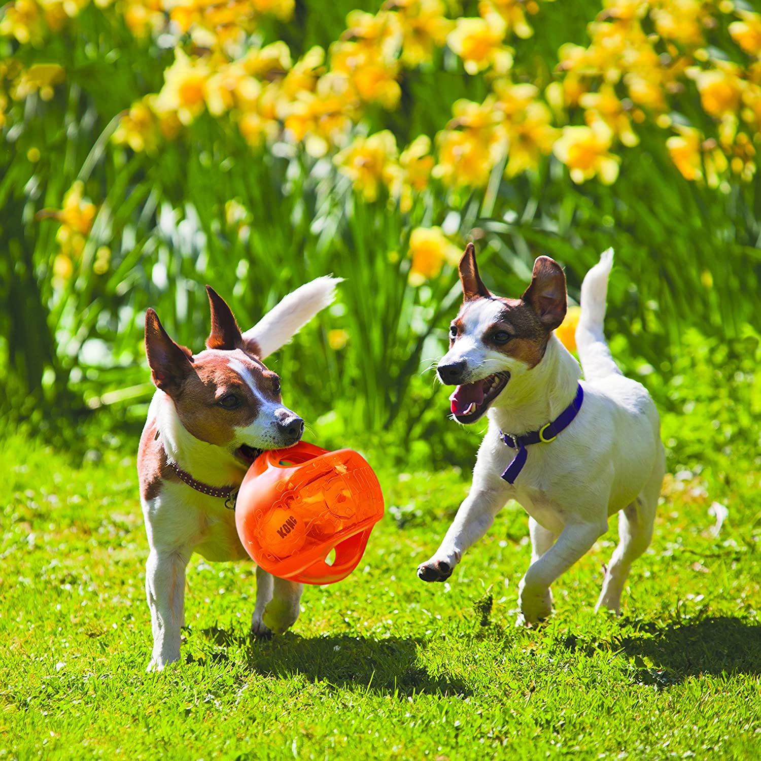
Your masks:
{"label": "dark shadow on grass beneath the dog carrying the orange ball", "polygon": [[431,675],[419,664],[419,648],[425,647],[425,641],[418,638],[304,638],[288,632],[257,639],[218,628],[204,629],[203,634],[215,645],[242,648],[250,669],[266,677],[288,679],[301,674],[311,682],[400,698],[421,693],[444,697],[472,694],[451,674]]}

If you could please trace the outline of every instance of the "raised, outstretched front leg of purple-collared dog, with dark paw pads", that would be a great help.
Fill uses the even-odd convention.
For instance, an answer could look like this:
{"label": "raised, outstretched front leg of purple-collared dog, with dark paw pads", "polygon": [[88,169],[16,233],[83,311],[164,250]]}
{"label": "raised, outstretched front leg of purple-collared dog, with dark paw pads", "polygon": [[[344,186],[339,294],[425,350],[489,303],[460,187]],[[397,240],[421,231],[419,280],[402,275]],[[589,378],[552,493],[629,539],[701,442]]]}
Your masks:
{"label": "raised, outstretched front leg of purple-collared dog, with dark paw pads", "polygon": [[482,488],[474,484],[434,556],[418,566],[419,578],[446,581],[467,549],[489,530],[505,501],[505,489],[499,486]]}

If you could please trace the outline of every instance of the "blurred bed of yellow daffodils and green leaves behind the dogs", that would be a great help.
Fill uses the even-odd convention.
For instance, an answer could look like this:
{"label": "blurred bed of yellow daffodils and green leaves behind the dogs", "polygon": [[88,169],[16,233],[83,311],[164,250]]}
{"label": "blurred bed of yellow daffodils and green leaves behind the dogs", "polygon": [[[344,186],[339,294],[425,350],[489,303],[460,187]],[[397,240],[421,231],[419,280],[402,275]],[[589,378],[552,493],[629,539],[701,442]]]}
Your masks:
{"label": "blurred bed of yellow daffodils and green leaves behind the dogs", "polygon": [[447,457],[427,368],[471,238],[495,291],[544,253],[572,301],[615,247],[616,352],[666,388],[688,329],[757,330],[759,130],[746,2],[8,2],[2,412],[137,422],[146,307],[198,350],[205,282],[248,326],[334,272],[286,395]]}

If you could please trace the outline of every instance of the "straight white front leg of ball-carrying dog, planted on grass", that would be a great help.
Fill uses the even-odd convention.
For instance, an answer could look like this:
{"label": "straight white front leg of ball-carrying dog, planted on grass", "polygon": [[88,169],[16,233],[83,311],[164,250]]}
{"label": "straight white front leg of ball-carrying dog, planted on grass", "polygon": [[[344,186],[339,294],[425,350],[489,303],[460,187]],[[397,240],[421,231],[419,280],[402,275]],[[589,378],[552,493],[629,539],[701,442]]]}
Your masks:
{"label": "straight white front leg of ball-carrying dog, planted on grass", "polygon": [[180,628],[184,620],[186,549],[151,548],[145,564],[145,594],[151,610],[153,653],[148,671],[161,671],[180,660]]}

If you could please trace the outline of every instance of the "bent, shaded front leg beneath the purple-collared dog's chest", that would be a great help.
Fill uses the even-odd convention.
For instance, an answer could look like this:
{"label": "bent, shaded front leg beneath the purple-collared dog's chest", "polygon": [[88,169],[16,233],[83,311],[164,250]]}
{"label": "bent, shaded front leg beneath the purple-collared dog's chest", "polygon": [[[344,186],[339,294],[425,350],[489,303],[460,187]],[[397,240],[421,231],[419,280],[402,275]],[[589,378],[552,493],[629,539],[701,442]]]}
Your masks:
{"label": "bent, shaded front leg beneath the purple-collared dog's chest", "polygon": [[549,587],[607,531],[607,521],[566,524],[558,540],[534,560],[518,587],[521,613],[527,623],[546,619],[552,612]]}

